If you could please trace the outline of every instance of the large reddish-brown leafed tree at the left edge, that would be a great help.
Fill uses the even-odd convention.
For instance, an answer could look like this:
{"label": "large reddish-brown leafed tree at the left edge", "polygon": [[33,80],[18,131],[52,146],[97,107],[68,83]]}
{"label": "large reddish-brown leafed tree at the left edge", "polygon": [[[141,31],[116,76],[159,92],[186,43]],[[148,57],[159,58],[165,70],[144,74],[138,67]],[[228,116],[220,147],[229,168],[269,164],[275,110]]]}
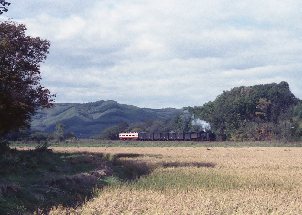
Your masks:
{"label": "large reddish-brown leafed tree at the left edge", "polygon": [[49,40],[25,36],[26,26],[11,20],[0,23],[0,137],[30,127],[39,108],[50,108],[53,97],[40,85],[40,63]]}

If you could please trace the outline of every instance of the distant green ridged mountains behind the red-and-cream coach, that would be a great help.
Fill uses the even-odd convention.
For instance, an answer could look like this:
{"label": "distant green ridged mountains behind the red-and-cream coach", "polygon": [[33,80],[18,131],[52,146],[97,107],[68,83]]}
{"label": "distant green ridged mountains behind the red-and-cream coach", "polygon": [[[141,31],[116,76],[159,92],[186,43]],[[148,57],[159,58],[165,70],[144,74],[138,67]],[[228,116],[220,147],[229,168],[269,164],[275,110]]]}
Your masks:
{"label": "distant green ridged mountains behind the red-and-cream coach", "polygon": [[176,108],[139,108],[119,104],[116,101],[97,101],[89,103],[56,103],[54,108],[39,110],[31,122],[31,130],[54,132],[58,123],[66,125],[66,132],[73,132],[82,138],[99,135],[106,128],[118,125],[121,121],[128,124],[143,122],[146,119],[171,119],[183,109]]}

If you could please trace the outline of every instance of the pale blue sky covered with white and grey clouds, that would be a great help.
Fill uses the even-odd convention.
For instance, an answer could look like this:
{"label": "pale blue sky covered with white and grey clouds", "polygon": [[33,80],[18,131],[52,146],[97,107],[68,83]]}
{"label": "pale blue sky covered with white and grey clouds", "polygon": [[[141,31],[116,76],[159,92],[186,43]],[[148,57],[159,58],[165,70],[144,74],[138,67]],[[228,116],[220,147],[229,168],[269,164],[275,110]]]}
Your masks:
{"label": "pale blue sky covered with white and grey clouds", "polygon": [[0,21],[51,42],[41,83],[56,103],[181,108],[281,81],[302,98],[298,0],[9,2]]}

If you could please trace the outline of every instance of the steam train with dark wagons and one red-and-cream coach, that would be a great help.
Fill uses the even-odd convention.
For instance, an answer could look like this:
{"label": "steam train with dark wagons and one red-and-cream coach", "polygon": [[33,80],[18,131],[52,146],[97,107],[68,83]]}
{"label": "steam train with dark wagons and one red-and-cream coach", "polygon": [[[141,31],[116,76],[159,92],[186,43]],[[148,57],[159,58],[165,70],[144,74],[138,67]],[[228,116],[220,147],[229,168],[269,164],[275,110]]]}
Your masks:
{"label": "steam train with dark wagons and one red-and-cream coach", "polygon": [[120,140],[149,140],[149,141],[215,141],[212,131],[201,132],[161,132],[161,133],[120,133]]}

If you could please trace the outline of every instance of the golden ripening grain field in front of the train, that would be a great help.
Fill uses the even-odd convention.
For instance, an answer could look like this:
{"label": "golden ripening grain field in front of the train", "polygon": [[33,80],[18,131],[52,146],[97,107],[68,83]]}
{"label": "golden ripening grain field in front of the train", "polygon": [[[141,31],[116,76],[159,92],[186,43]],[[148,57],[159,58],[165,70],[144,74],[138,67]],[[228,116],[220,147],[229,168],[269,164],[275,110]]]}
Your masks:
{"label": "golden ripening grain field in front of the train", "polygon": [[[54,207],[51,215],[302,214],[302,148],[53,148],[140,154],[121,159],[152,167],[152,171],[140,179],[96,190],[95,198],[78,208]],[[214,167],[203,165],[209,163]]]}

